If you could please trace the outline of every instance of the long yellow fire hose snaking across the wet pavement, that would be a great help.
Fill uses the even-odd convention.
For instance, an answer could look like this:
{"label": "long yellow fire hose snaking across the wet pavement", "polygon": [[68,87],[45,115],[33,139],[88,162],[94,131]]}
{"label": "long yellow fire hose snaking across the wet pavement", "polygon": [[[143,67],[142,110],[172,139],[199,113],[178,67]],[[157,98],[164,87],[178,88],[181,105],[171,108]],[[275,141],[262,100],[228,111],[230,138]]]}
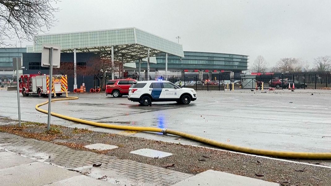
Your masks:
{"label": "long yellow fire hose snaking across the wet pavement", "polygon": [[[66,94],[67,94],[66,98],[53,99],[52,102],[61,101],[61,100],[78,99],[78,97],[69,97],[68,93],[66,93]],[[48,101],[37,104],[35,107],[36,110],[39,112],[48,114],[48,112],[46,110],[39,108],[40,106],[45,105],[47,103],[48,103]],[[271,151],[271,150],[263,150],[263,149],[254,149],[254,148],[247,148],[247,147],[241,147],[241,146],[237,146],[237,145],[221,143],[221,142],[218,142],[215,140],[207,139],[204,137],[200,137],[200,136],[196,136],[196,135],[192,135],[192,134],[188,134],[188,133],[184,133],[184,132],[179,132],[176,130],[159,129],[159,128],[154,128],[154,127],[132,127],[132,126],[121,126],[121,125],[113,125],[113,124],[106,124],[106,123],[98,123],[98,122],[73,118],[70,116],[65,116],[62,114],[55,113],[55,112],[51,112],[51,115],[56,116],[58,118],[65,119],[65,120],[77,122],[77,123],[92,125],[92,126],[96,126],[96,127],[109,128],[109,129],[163,132],[164,134],[172,134],[172,135],[181,136],[181,137],[191,139],[194,141],[198,141],[201,143],[205,143],[207,145],[211,145],[214,147],[219,147],[219,148],[230,150],[230,151],[253,154],[253,155],[272,156],[272,157],[278,157],[278,158],[291,158],[291,159],[321,159],[321,160],[330,160],[331,159],[331,153],[286,152],[286,151]]]}

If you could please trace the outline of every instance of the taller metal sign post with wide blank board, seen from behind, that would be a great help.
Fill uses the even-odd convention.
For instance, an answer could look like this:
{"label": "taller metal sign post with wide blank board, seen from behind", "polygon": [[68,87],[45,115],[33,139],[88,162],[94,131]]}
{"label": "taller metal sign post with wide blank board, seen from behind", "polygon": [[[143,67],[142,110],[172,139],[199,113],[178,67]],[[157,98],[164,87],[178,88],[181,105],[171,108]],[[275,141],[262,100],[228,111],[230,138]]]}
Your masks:
{"label": "taller metal sign post with wide blank board, seen from behind", "polygon": [[48,87],[48,117],[47,131],[51,128],[51,103],[52,103],[52,85],[53,85],[53,67],[60,68],[61,47],[59,45],[43,44],[41,52],[41,66],[49,67]]}

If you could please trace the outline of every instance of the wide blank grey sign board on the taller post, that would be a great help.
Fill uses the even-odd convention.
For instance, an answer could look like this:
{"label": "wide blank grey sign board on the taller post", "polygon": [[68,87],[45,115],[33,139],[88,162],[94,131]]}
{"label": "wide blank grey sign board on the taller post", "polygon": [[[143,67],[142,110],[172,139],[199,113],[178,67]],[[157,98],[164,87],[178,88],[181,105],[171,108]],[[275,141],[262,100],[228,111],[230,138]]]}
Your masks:
{"label": "wide blank grey sign board on the taller post", "polygon": [[51,57],[51,48],[53,48],[53,67],[60,68],[60,55],[61,55],[61,46],[43,44],[41,51],[41,66],[49,67],[50,66],[50,57]]}

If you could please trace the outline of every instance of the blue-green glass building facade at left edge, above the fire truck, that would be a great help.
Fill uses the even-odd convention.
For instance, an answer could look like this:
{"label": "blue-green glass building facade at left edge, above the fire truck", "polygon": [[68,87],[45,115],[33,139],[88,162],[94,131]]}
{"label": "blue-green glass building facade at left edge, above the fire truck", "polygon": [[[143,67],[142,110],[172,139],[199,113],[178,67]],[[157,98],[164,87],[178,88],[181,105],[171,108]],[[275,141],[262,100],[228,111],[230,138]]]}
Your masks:
{"label": "blue-green glass building facade at left edge, above the fire truck", "polygon": [[13,70],[13,57],[22,57],[26,48],[0,48],[0,70]]}

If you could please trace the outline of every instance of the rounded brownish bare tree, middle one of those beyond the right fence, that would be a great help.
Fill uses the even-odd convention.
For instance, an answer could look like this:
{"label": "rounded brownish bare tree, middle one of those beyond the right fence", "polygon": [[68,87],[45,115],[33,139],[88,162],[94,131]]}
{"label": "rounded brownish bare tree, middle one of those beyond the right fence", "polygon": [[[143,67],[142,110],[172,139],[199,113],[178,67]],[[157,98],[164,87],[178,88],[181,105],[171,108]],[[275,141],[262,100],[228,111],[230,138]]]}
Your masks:
{"label": "rounded brownish bare tree, middle one of those beyond the right fence", "polygon": [[299,58],[280,58],[276,64],[276,69],[280,72],[301,72],[302,63]]}

